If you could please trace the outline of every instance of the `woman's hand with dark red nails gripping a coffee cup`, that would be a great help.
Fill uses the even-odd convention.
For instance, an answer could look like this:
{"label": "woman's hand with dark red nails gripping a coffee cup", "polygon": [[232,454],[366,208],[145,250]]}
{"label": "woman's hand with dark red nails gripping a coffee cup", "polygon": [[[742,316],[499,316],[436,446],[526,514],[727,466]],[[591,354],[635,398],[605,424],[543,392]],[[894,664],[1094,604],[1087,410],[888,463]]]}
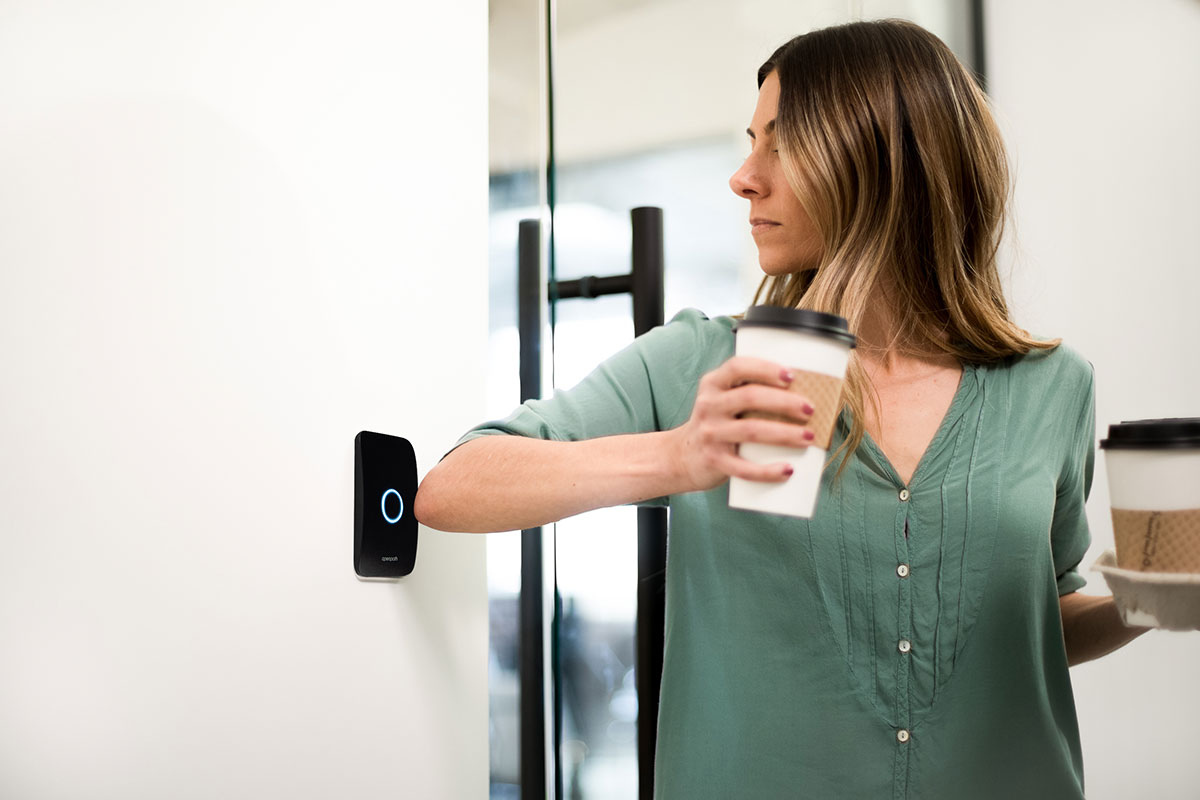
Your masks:
{"label": "woman's hand with dark red nails gripping a coffee cup", "polygon": [[[743,441],[808,447],[812,432],[803,427],[812,416],[809,399],[791,391],[785,367],[748,356],[733,356],[700,379],[691,419],[672,431],[674,462],[689,492],[715,488],[731,476],[780,482],[792,474],[786,463],[756,464],[738,457]],[[766,411],[796,420],[740,419],[745,411]]]}

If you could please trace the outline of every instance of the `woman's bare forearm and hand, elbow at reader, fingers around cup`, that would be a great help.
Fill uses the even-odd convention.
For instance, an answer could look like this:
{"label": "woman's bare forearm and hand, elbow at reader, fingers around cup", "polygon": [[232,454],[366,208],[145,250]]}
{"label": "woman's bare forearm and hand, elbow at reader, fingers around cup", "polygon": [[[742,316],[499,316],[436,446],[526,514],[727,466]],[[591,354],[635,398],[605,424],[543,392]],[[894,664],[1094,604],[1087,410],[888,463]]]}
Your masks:
{"label": "woman's bare forearm and hand, elbow at reader, fingers around cup", "polygon": [[[791,380],[778,363],[734,356],[701,378],[691,417],[671,431],[580,441],[520,435],[467,441],[425,476],[416,518],[438,530],[518,530],[593,509],[708,491],[731,475],[784,481],[786,463],[755,464],[737,456],[737,445],[811,444],[803,425],[812,408],[785,389]],[[740,419],[748,410],[797,423]]]}

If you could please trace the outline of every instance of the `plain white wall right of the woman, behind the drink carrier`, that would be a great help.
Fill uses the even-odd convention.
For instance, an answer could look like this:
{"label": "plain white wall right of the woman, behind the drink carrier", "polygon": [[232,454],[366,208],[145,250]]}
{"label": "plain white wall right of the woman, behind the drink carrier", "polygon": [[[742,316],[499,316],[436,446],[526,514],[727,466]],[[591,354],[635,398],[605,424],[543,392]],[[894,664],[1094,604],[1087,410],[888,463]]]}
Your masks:
{"label": "plain white wall right of the woman, behind the drink carrier", "polygon": [[[1200,2],[989,2],[1016,176],[1012,296],[1096,367],[1097,434],[1200,416]],[[1098,455],[1090,570],[1112,547]],[[1085,572],[1088,594],[1108,594]],[[1200,795],[1200,633],[1153,631],[1072,670],[1092,800]]]}

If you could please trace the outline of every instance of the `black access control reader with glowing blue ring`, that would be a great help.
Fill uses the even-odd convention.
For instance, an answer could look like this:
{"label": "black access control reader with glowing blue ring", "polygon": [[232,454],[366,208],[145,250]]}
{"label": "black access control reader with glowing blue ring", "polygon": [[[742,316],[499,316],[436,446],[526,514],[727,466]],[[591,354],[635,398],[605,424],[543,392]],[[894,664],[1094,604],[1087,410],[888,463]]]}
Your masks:
{"label": "black access control reader with glowing blue ring", "polygon": [[416,453],[408,439],[354,437],[354,571],[402,578],[416,563]]}

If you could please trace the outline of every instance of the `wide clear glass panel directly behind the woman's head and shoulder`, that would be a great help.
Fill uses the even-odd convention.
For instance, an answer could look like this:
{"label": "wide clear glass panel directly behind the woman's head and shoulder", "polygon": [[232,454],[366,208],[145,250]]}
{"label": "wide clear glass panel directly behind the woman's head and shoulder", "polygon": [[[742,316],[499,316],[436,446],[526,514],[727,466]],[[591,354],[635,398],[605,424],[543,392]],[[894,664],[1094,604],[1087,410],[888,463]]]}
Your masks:
{"label": "wide clear glass panel directly behind the woman's head and shoulder", "polygon": [[[758,66],[797,34],[904,17],[970,62],[970,4],[934,0],[606,0],[557,6],[556,277],[630,271],[630,209],[664,209],[665,317],[744,311],[762,279],[728,179],[749,152]],[[554,385],[632,339],[628,295],[554,308]],[[559,753],[569,799],[637,796],[632,507],[556,525]],[[670,569],[670,567],[668,567]]]}

